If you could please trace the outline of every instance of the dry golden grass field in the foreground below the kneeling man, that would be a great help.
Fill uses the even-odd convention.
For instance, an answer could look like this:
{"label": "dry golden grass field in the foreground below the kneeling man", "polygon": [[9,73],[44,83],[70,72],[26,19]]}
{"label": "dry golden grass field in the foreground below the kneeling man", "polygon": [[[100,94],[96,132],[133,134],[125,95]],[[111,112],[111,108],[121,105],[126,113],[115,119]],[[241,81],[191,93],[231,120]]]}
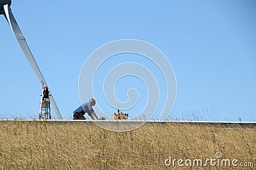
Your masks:
{"label": "dry golden grass field in the foreground below the kneeling man", "polygon": [[164,166],[173,159],[253,162],[255,125],[148,122],[129,132],[110,132],[92,122],[0,121],[0,169],[221,169]]}

